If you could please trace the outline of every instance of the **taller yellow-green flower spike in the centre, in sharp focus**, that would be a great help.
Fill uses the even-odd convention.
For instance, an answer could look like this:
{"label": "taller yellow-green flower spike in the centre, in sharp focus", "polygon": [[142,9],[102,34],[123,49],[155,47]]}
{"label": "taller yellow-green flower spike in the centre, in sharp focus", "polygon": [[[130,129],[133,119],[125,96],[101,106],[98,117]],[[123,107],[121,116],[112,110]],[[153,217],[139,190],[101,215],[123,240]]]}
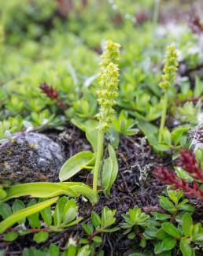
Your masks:
{"label": "taller yellow-green flower spike in the centre, in sharp focus", "polygon": [[100,109],[97,117],[99,120],[98,129],[101,132],[108,129],[109,124],[113,121],[113,106],[116,105],[116,98],[118,96],[119,48],[120,45],[118,43],[107,41],[100,63],[100,73],[98,76],[100,89],[97,91]]}

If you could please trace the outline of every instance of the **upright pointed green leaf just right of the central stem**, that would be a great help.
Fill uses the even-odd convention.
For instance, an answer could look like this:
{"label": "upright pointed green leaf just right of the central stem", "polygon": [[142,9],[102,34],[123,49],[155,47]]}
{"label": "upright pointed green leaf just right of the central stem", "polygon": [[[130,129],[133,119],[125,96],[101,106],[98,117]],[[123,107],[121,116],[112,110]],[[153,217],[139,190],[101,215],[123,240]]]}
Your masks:
{"label": "upright pointed green leaf just right of the central stem", "polygon": [[110,194],[111,187],[116,180],[118,174],[118,163],[116,158],[116,153],[113,147],[109,144],[109,158],[105,160],[103,172],[102,172],[102,184],[105,188],[106,194]]}

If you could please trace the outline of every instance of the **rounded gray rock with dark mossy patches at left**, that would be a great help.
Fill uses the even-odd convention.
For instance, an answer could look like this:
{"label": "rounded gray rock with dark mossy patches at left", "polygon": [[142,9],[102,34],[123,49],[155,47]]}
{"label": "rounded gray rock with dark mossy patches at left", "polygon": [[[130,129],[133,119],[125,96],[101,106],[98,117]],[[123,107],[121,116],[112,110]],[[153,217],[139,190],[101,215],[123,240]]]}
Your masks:
{"label": "rounded gray rock with dark mossy patches at left", "polygon": [[0,184],[56,181],[64,162],[61,147],[46,135],[16,133],[0,146]]}

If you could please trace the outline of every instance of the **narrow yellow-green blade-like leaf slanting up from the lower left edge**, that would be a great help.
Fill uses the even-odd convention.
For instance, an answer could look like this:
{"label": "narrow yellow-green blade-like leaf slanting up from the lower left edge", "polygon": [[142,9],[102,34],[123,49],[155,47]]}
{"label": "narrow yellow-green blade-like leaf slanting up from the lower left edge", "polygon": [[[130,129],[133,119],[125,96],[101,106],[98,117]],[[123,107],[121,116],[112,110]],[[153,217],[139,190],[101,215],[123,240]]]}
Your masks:
{"label": "narrow yellow-green blade-like leaf slanting up from the lower left edge", "polygon": [[40,210],[45,209],[48,206],[51,206],[54,202],[57,202],[58,198],[51,198],[45,202],[39,202],[35,206],[27,207],[23,210],[19,210],[16,213],[13,213],[11,216],[7,217],[6,220],[0,223],[0,233],[5,232],[5,230],[11,227],[13,224],[17,223],[24,217],[28,217],[33,213],[38,213]]}

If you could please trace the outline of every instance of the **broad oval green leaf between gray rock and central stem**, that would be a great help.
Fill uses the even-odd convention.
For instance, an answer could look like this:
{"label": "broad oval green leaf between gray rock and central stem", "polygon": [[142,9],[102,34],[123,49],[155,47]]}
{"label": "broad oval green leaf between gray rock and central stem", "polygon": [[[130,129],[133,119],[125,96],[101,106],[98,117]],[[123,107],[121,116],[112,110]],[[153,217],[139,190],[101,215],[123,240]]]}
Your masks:
{"label": "broad oval green leaf between gray rock and central stem", "polygon": [[59,180],[68,180],[76,175],[76,173],[79,173],[79,171],[83,169],[83,166],[94,165],[94,159],[94,154],[90,151],[82,151],[75,154],[62,165]]}

